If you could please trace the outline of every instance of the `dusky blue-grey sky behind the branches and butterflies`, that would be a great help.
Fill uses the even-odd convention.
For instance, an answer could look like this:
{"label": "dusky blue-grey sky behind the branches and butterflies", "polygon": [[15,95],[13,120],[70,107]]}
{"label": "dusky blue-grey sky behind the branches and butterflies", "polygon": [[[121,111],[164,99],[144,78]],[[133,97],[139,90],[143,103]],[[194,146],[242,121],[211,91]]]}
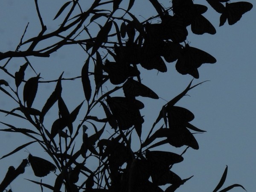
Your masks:
{"label": "dusky blue-grey sky behind the branches and butterflies", "polygon": [[[190,90],[189,96],[183,97],[177,103],[177,106],[187,108],[194,113],[195,119],[191,122],[192,125],[207,131],[204,134],[194,135],[199,143],[199,150],[189,149],[183,155],[183,162],[176,164],[172,169],[183,179],[194,175],[192,179],[183,186],[180,186],[177,192],[211,192],[218,184],[226,165],[228,166],[228,173],[223,187],[239,183],[248,192],[255,191],[256,4],[254,0],[246,1],[253,4],[253,9],[244,14],[241,20],[233,26],[225,23],[224,26],[218,27],[219,14],[211,8],[208,9],[204,17],[215,26],[217,31],[215,35],[194,35],[190,32],[190,27],[188,27],[189,36],[187,41],[189,41],[190,46],[208,52],[217,59],[217,63],[203,64],[199,68],[200,78],[195,79],[193,84],[206,80],[209,81]],[[52,19],[63,2],[55,1],[53,3],[51,0],[38,2],[44,22],[47,24],[47,29],[51,32],[61,23],[61,17],[59,20]],[[232,2],[237,1],[232,0]],[[202,0],[195,0],[194,3],[206,4]],[[127,6],[127,4],[128,0],[124,0],[123,5]],[[87,5],[83,6],[86,7]],[[151,4],[146,0],[136,1],[131,12],[139,20],[155,14],[154,10],[151,10]],[[28,22],[29,27],[25,34],[25,39],[33,35],[35,36],[40,32],[41,26],[35,14],[33,0],[0,1],[0,52],[15,50]],[[51,41],[55,41],[55,39]],[[40,44],[39,46],[44,47],[45,44]],[[41,73],[41,76],[44,78],[43,80],[52,80],[57,79],[62,71],[64,71],[65,78],[79,76],[81,67],[86,59],[87,55],[84,54],[83,50],[78,47],[71,48],[67,46],[53,53],[50,58],[38,59],[30,57],[29,61],[33,64],[35,71]],[[0,66],[3,66],[5,62],[6,60],[0,61]],[[14,74],[19,70],[20,65],[24,63],[23,60],[15,58],[8,64],[7,69]],[[145,109],[141,111],[142,115],[145,115],[145,122],[143,124],[145,129],[151,128],[152,123],[158,116],[158,111],[166,104],[166,101],[182,92],[192,80],[192,76],[184,76],[177,73],[175,63],[167,64],[167,68],[167,73],[157,73],[156,70],[143,71],[143,84],[150,87],[160,96],[160,99],[154,101],[152,99],[138,98],[145,103]],[[33,76],[36,76],[35,73],[31,69],[27,69],[25,79]],[[0,79],[6,79],[11,86],[15,87],[12,79],[6,76],[3,71],[0,71]],[[110,84],[107,86],[110,86]],[[40,84],[33,106],[41,109],[54,88],[55,84],[53,83]],[[107,91],[110,87],[104,88]],[[22,94],[22,89],[19,91]],[[67,107],[72,111],[84,100],[81,82],[76,80],[63,83],[62,95],[64,101],[67,101]],[[17,106],[13,105],[11,100],[6,99],[0,93],[1,109],[10,110],[15,107]],[[85,110],[86,106],[84,105],[82,109]],[[94,111],[94,113],[101,114],[102,111]],[[47,125],[49,129],[52,121],[57,116],[58,110],[55,106],[55,108],[49,111],[45,119],[45,122],[49,122],[49,125]],[[80,117],[82,118],[82,116]],[[0,121],[12,122],[17,127],[32,128],[26,122],[16,119],[14,121],[11,116],[4,117],[3,114],[0,114]],[[75,125],[78,124],[79,122],[75,123]],[[158,126],[161,126],[161,124]],[[0,128],[6,127],[0,125]],[[1,132],[0,145],[2,149],[0,156],[9,153],[18,145],[29,141],[27,137]],[[40,150],[37,145],[29,146],[27,149],[35,156],[50,160],[46,153],[39,152]],[[156,148],[155,150],[159,149]],[[184,148],[174,148],[166,145],[161,150],[180,154]],[[21,150],[14,156],[0,160],[0,178],[4,177],[9,166],[15,166],[16,168],[21,160],[26,157],[28,157],[28,153]],[[43,178],[43,181],[51,183],[51,178],[55,177],[53,174],[48,176]],[[24,178],[40,180],[33,176],[31,167],[27,167],[25,174],[20,175],[11,184],[14,192],[40,190],[39,186],[31,184],[29,181],[24,180]],[[44,189],[44,191],[47,190]],[[241,188],[232,190],[232,192],[242,191],[243,189]]]}

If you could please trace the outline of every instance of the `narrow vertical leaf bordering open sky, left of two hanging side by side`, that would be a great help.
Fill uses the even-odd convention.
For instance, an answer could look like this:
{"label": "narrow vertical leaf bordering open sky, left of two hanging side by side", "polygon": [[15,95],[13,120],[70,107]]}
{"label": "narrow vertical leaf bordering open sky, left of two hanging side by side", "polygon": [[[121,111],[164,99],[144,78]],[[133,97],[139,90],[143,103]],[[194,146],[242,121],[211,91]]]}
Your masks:
{"label": "narrow vertical leaf bordering open sky, left of two hanging side by side", "polygon": [[84,88],[84,96],[87,102],[89,102],[91,94],[92,94],[92,88],[90,86],[90,79],[89,79],[89,74],[88,74],[88,68],[89,68],[89,61],[90,58],[88,58],[82,68],[81,71],[81,79],[82,79],[82,84]]}

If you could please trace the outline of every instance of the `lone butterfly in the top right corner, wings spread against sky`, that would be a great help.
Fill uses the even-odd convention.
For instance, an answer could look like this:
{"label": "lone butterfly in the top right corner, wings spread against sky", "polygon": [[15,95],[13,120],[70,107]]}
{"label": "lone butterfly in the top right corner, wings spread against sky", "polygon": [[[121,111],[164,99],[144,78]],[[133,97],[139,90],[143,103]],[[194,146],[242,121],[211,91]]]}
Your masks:
{"label": "lone butterfly in the top right corner, wings spread against sky", "polygon": [[244,15],[250,11],[253,5],[248,2],[226,3],[226,7],[220,17],[220,26],[224,25],[226,20],[229,25],[235,24]]}

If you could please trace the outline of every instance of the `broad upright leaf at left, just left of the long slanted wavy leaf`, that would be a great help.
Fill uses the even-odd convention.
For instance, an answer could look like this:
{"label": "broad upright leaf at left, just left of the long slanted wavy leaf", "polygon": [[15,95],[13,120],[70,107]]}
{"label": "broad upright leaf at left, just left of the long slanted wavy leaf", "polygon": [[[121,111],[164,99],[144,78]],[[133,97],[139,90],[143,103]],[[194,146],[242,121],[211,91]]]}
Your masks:
{"label": "broad upright leaf at left, just left of the long slanted wavy leaf", "polygon": [[24,101],[24,105],[26,102],[26,105],[28,108],[31,108],[34,102],[35,95],[38,89],[38,79],[40,78],[39,76],[40,76],[40,73],[38,74],[38,76],[30,78],[28,81],[26,81],[24,85],[23,101]]}

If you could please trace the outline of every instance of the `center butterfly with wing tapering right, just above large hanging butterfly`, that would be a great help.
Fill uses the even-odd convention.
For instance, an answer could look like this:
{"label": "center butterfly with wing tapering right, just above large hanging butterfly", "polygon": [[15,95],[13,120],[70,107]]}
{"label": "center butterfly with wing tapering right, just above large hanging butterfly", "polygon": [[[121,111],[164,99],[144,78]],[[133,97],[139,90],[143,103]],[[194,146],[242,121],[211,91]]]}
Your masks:
{"label": "center butterfly with wing tapering right, just above large hanging butterfly", "polygon": [[125,97],[143,96],[143,97],[150,97],[152,99],[158,99],[159,98],[154,91],[152,91],[147,86],[140,83],[139,81],[135,81],[132,78],[129,78],[123,84],[122,88],[123,88],[123,91],[125,93]]}

